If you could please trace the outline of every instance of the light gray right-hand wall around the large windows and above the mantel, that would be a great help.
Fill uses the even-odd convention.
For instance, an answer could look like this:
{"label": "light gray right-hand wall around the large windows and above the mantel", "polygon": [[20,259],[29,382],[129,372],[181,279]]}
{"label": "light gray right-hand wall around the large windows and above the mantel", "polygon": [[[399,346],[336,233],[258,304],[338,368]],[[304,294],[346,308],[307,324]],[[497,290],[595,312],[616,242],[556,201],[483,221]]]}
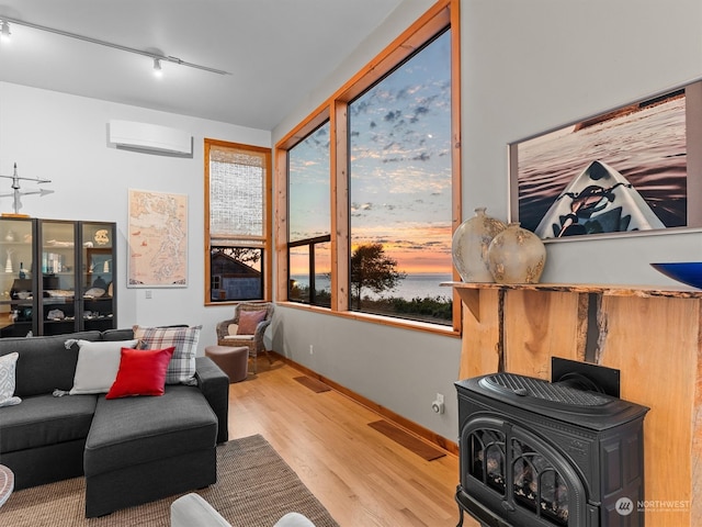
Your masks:
{"label": "light gray right-hand wall around the large windows and above the mantel", "polygon": [[[273,142],[432,3],[403,2],[301,101]],[[480,205],[507,217],[508,143],[702,77],[699,0],[463,0],[461,24],[465,217]],[[542,279],[672,284],[648,262],[700,260],[701,248],[699,233],[550,244]],[[276,346],[294,360],[456,439],[457,340],[291,309],[279,310],[278,324]],[[326,346],[321,354],[317,341]],[[429,407],[435,392],[446,395],[443,416]]]}

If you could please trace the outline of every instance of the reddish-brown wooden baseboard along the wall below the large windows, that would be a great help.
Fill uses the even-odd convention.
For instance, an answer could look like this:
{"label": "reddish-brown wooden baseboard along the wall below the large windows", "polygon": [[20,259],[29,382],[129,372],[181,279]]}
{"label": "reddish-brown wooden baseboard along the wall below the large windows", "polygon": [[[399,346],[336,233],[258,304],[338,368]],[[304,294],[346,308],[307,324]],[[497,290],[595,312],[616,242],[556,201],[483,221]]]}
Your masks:
{"label": "reddish-brown wooden baseboard along the wall below the large windows", "polygon": [[395,412],[386,408],[385,406],[382,406],[377,403],[374,403],[373,401],[371,401],[370,399],[364,397],[363,395],[360,395],[359,393],[349,390],[346,386],[342,386],[341,384],[332,381],[331,379],[327,379],[325,375],[320,375],[319,373],[317,373],[314,370],[310,370],[309,368],[307,368],[306,366],[303,366],[298,362],[295,362],[294,360],[288,359],[287,357],[283,357],[282,355],[280,355],[276,351],[269,351],[270,355],[274,356],[276,359],[285,362],[286,365],[290,365],[292,368],[295,368],[296,370],[303,372],[304,374],[306,374],[307,377],[310,377],[313,379],[316,379],[320,382],[324,382],[325,384],[327,384],[329,388],[331,388],[332,390],[341,393],[342,395],[346,395],[347,397],[351,399],[352,401],[365,406],[366,408],[371,410],[372,412],[375,412],[376,414],[378,414],[380,416],[392,421],[395,425],[404,428],[405,430],[407,430],[410,434],[414,434],[415,436],[445,450],[446,452],[453,455],[453,456],[458,456],[458,445],[454,441],[450,441],[449,439],[446,439],[443,436],[440,436],[439,434],[434,434],[433,431],[431,431],[429,428],[424,428],[421,425],[418,425],[417,423],[407,419],[406,417],[403,417],[399,414],[396,414]]}

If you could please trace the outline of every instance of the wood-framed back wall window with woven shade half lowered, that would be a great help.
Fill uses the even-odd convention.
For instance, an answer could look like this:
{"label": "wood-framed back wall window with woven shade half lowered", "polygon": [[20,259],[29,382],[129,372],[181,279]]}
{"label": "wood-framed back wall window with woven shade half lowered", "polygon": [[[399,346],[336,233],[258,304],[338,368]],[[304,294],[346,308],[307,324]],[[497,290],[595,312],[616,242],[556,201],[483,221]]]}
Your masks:
{"label": "wood-framed back wall window with woven shade half lowered", "polygon": [[268,148],[205,139],[205,304],[270,299]]}

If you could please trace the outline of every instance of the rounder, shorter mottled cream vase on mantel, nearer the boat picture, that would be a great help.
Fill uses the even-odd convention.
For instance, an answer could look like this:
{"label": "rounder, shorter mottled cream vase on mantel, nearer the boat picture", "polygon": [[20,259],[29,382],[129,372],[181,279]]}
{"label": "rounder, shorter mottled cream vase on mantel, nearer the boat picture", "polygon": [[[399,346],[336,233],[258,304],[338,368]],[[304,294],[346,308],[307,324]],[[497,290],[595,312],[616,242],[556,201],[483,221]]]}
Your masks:
{"label": "rounder, shorter mottled cream vase on mantel, nearer the boat picture", "polygon": [[487,257],[497,283],[539,283],[546,265],[546,247],[539,236],[516,222],[492,238]]}

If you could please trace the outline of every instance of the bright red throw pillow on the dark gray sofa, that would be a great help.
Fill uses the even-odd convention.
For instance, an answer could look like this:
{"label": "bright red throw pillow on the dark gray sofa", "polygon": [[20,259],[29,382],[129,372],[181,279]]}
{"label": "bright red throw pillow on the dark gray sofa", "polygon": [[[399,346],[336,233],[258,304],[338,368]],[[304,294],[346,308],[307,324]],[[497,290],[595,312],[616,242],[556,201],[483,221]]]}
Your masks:
{"label": "bright red throw pillow on the dark gray sofa", "polygon": [[166,370],[176,347],[166,349],[122,348],[117,378],[105,399],[163,395]]}

